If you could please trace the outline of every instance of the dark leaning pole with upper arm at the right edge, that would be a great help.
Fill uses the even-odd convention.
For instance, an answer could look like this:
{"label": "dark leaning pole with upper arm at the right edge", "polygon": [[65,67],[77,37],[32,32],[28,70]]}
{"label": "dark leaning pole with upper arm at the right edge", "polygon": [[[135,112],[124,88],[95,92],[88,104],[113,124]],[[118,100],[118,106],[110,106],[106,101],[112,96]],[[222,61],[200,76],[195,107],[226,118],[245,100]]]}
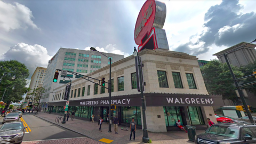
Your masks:
{"label": "dark leaning pole with upper arm at the right edge", "polygon": [[[250,42],[250,43],[253,43],[253,42],[256,42],[256,39],[254,39],[254,41],[252,41],[252,42]],[[250,44],[250,43],[247,43],[247,44]],[[247,45],[247,44],[245,44],[245,45]],[[249,117],[249,119],[250,119],[250,122],[251,122],[251,123],[254,123],[254,119],[252,118],[252,114],[251,114],[251,112],[250,112],[250,110],[249,110],[249,108],[248,108],[248,106],[247,106],[246,101],[245,101],[244,93],[243,93],[242,90],[241,90],[241,87],[242,87],[242,86],[239,86],[239,84],[238,84],[238,82],[237,82],[237,81],[238,81],[239,79],[241,79],[241,78],[238,78],[238,79],[236,78],[236,76],[234,75],[233,70],[232,70],[232,68],[231,68],[231,66],[230,66],[230,63],[229,63],[229,61],[228,61],[228,57],[227,57],[227,54],[228,54],[228,53],[234,52],[235,50],[238,50],[238,49],[240,49],[241,47],[244,47],[245,45],[239,46],[239,47],[237,47],[236,49],[233,49],[233,50],[231,50],[231,51],[229,51],[229,52],[226,52],[226,53],[223,54],[223,56],[224,56],[224,58],[225,58],[225,60],[226,60],[226,63],[227,63],[227,65],[228,65],[228,69],[229,69],[229,71],[230,71],[230,73],[231,73],[231,76],[232,76],[232,78],[233,78],[233,80],[234,80],[234,83],[235,83],[235,85],[236,85],[236,89],[237,89],[237,91],[238,91],[238,93],[239,93],[239,95],[240,95],[240,98],[241,98],[242,102],[243,102],[245,111],[246,111],[246,113],[247,113],[247,115],[248,115],[248,117]]]}

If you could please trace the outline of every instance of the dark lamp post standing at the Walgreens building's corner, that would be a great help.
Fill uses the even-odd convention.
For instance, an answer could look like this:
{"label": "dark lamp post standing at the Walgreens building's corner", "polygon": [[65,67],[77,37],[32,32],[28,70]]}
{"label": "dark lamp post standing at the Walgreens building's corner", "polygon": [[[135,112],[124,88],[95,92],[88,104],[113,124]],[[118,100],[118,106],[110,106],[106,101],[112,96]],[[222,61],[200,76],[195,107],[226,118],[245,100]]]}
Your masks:
{"label": "dark lamp post standing at the Walgreens building's corner", "polygon": [[135,59],[137,59],[138,61],[138,75],[139,75],[139,79],[140,79],[140,95],[141,95],[141,105],[142,105],[142,117],[143,117],[143,137],[142,137],[142,141],[145,143],[149,142],[149,137],[148,137],[148,130],[147,130],[147,122],[146,122],[146,113],[145,113],[145,99],[144,99],[144,94],[143,94],[143,83],[142,83],[142,73],[141,73],[141,63],[139,60],[139,55],[138,52],[136,50],[136,47],[134,47],[134,52],[133,52],[133,56],[135,57]]}

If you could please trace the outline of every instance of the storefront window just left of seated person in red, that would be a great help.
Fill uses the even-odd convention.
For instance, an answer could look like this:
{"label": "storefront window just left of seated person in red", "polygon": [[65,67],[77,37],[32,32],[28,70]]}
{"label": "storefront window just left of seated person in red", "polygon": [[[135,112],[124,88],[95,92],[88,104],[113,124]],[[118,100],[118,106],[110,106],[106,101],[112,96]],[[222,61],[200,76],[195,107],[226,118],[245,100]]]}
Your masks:
{"label": "storefront window just left of seated person in red", "polygon": [[164,107],[164,115],[166,126],[177,126],[176,122],[178,120],[180,120],[180,124],[183,125],[180,107]]}

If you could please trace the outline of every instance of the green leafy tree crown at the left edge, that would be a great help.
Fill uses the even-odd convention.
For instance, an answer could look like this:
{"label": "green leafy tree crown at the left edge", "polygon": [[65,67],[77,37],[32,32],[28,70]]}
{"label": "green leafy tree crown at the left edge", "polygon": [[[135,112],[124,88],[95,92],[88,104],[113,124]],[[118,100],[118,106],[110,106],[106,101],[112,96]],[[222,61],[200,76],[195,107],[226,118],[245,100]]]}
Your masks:
{"label": "green leafy tree crown at the left edge", "polygon": [[[27,67],[17,61],[17,60],[10,60],[10,61],[0,61],[0,77],[7,73],[2,79],[0,84],[0,95],[3,95],[4,90],[7,86],[10,86],[6,89],[4,94],[3,101],[9,105],[12,102],[19,102],[22,100],[22,95],[26,93],[27,90],[27,82],[26,78],[29,77],[29,70]],[[15,74],[15,79],[12,80],[12,76]],[[12,87],[15,86],[15,89],[12,90]]]}

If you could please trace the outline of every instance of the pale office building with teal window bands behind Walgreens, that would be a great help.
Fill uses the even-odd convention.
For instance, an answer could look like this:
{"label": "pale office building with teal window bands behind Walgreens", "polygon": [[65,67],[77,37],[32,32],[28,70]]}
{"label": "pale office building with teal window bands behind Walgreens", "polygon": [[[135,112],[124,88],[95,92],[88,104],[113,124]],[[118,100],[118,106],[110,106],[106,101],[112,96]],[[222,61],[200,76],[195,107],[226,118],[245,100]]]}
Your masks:
{"label": "pale office building with teal window bands behind Walgreens", "polygon": [[[113,53],[103,54],[107,55],[107,57],[111,57],[113,60],[112,63],[124,58],[124,55]],[[99,52],[66,49],[61,47],[59,51],[52,57],[52,59],[49,60],[49,64],[47,66],[47,74],[45,75],[45,82],[43,84],[45,93],[41,99],[42,110],[47,108],[47,102],[49,101],[49,97],[54,95],[53,89],[55,87],[69,83],[69,78],[71,81],[79,78],[79,76],[68,74],[67,77],[69,78],[66,78],[66,81],[63,81],[63,76],[59,74],[57,83],[53,83],[53,76],[56,69],[69,70],[86,75],[94,72],[95,70],[108,66],[109,59],[107,57],[103,56]]]}

